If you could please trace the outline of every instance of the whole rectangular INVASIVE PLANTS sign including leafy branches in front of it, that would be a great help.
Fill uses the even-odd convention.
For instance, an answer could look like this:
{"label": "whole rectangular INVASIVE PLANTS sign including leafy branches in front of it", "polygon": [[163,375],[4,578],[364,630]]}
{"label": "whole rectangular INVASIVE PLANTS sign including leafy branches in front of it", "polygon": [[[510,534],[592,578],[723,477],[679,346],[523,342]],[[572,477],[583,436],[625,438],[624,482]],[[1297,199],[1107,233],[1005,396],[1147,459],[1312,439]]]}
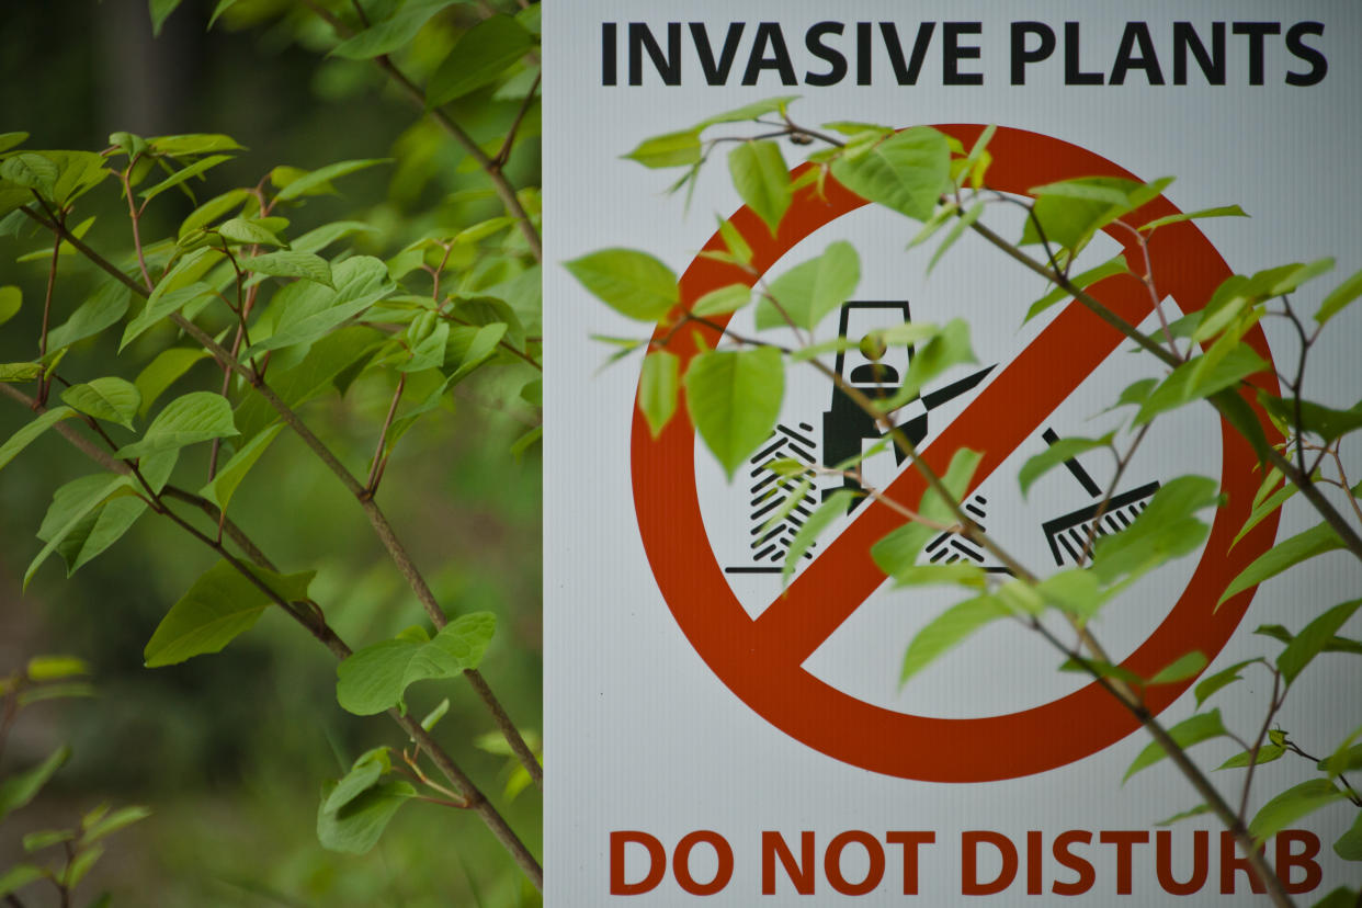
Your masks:
{"label": "whole rectangular INVASIVE PLANTS sign including leafy branches in front of it", "polygon": [[545,23],[548,900],[1352,905],[1362,10]]}

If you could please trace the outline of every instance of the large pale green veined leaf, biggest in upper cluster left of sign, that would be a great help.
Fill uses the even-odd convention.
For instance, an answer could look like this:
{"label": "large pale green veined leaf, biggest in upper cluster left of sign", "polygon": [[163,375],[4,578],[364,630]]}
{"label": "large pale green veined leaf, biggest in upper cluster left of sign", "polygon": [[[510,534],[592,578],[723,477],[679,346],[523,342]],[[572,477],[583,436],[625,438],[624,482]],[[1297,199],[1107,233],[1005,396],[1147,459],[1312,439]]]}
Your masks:
{"label": "large pale green veined leaf, biggest in upper cluster left of sign", "polygon": [[394,290],[388,270],[373,256],[354,256],[331,270],[335,290],[311,282],[281,287],[271,309],[281,310],[274,334],[255,343],[251,355],[313,343]]}

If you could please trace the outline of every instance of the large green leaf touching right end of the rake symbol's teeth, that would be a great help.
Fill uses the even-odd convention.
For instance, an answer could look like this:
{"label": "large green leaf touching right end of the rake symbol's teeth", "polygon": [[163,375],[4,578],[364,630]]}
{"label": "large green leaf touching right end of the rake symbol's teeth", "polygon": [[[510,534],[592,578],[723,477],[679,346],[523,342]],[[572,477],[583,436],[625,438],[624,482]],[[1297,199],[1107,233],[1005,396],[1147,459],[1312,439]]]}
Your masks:
{"label": "large green leaf touching right end of the rake symbol's teeth", "polygon": [[1196,512],[1219,501],[1219,485],[1205,476],[1178,476],[1163,483],[1135,523],[1098,539],[1092,547],[1094,573],[1111,584],[1190,554],[1209,534]]}

